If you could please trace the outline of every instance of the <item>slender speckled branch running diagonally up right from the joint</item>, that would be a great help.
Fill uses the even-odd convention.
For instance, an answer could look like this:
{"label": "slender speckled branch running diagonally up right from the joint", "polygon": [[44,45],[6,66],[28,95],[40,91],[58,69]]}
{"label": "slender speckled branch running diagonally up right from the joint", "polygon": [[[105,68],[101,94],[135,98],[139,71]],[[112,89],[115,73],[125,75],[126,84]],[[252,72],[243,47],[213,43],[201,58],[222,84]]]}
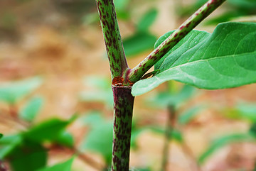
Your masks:
{"label": "slender speckled branch running diagonally up right from the joint", "polygon": [[225,0],[209,0],[198,11],[193,13],[169,38],[166,38],[159,47],[150,53],[142,62],[134,67],[128,75],[128,79],[132,82],[137,82],[142,76],[158,62],[171,48],[178,43],[179,40],[184,38],[198,23],[203,21],[210,13],[223,4]]}

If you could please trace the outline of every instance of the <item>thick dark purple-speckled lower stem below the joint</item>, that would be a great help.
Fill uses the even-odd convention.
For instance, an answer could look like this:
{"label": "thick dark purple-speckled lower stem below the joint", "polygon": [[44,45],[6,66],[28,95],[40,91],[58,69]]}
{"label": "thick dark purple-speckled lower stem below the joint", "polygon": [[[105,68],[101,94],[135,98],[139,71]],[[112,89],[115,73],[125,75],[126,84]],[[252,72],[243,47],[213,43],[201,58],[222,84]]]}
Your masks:
{"label": "thick dark purple-speckled lower stem below the joint", "polygon": [[114,133],[112,171],[129,171],[134,96],[131,86],[112,86],[114,94]]}

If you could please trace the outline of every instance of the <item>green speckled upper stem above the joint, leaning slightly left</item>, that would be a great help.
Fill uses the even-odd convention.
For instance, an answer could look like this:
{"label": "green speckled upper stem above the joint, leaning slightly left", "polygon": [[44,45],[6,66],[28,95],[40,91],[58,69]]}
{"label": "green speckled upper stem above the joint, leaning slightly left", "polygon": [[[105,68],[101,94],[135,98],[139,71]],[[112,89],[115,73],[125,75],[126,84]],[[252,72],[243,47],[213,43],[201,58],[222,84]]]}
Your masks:
{"label": "green speckled upper stem above the joint, leaning slightly left", "polygon": [[112,78],[122,77],[128,68],[113,0],[96,0]]}

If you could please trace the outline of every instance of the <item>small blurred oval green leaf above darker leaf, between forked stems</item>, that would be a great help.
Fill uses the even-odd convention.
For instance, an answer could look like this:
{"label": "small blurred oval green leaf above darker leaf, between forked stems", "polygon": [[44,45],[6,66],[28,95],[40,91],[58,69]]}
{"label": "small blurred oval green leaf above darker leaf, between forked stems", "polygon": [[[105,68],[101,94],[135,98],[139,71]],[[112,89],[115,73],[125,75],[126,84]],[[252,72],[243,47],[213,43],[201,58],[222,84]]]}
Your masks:
{"label": "small blurred oval green leaf above darker leaf, between forked stems", "polygon": [[157,10],[151,9],[147,11],[144,16],[142,16],[141,20],[138,23],[137,30],[138,32],[145,32],[149,30],[149,27],[154,23],[157,16]]}

